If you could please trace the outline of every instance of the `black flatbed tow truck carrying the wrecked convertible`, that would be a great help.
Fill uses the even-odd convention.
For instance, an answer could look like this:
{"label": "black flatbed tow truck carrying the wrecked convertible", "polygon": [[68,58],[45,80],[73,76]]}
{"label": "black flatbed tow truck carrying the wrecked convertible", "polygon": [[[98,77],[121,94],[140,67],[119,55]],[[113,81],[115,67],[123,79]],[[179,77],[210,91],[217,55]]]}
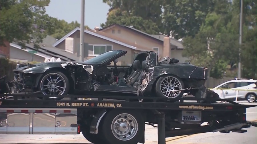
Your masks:
{"label": "black flatbed tow truck carrying the wrecked convertible", "polygon": [[[28,98],[23,98],[29,96]],[[37,97],[43,99],[36,99]],[[206,132],[244,133],[256,124],[246,120],[246,108],[226,99],[134,96],[62,95],[69,100],[47,100],[51,95],[0,94],[0,134],[80,134],[96,144],[144,143],[145,124],[158,124],[158,144],[165,137]],[[33,99],[35,98],[35,99]],[[81,100],[82,99],[82,100]],[[143,99],[143,101],[142,101]],[[146,102],[146,101],[147,102]],[[201,126],[207,122],[208,125]]]}

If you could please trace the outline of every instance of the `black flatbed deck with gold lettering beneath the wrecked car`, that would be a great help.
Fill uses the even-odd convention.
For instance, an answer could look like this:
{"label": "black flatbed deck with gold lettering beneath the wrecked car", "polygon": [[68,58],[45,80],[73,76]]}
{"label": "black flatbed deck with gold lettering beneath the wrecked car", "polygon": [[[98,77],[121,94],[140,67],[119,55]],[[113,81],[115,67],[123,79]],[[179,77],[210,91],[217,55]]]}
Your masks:
{"label": "black flatbed deck with gold lettering beneath the wrecked car", "polygon": [[[85,98],[82,95],[63,95],[70,100],[41,100],[21,99],[47,97],[38,94],[0,94],[0,108],[126,108],[126,109],[158,109],[158,110],[208,110],[208,111],[231,111],[233,108],[248,108],[255,105],[241,105],[226,99],[210,99],[212,103],[198,103],[193,97],[174,98],[177,102],[157,102],[166,100],[157,97],[135,97],[135,96],[90,96],[94,100],[77,100]],[[5,99],[5,97],[9,97]],[[12,98],[10,98],[12,97]],[[97,100],[95,100],[97,99]],[[138,101],[135,101],[138,99]],[[142,101],[140,101],[142,100]]]}

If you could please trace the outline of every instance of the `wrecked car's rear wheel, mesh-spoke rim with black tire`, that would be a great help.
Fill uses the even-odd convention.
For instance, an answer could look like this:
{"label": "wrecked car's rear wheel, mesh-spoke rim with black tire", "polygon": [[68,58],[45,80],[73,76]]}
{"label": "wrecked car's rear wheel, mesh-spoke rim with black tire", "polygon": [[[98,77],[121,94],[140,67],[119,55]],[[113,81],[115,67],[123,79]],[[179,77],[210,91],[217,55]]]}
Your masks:
{"label": "wrecked car's rear wheel, mesh-spoke rim with black tire", "polygon": [[178,98],[183,95],[182,91],[176,91],[174,93],[171,93],[175,90],[181,90],[184,89],[184,83],[183,81],[174,75],[164,75],[160,77],[155,86],[155,92],[158,96],[164,97],[164,98]]}

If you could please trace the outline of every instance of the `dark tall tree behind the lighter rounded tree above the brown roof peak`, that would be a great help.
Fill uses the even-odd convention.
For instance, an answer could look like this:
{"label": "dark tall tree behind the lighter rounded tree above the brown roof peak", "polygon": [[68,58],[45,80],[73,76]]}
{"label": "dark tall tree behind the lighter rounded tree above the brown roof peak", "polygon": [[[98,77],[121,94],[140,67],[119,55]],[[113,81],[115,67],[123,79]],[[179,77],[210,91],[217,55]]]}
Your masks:
{"label": "dark tall tree behind the lighter rounded tree above the brown roof peak", "polygon": [[[109,13],[119,9],[121,12],[126,12],[128,16],[150,20],[154,22],[159,29],[162,28],[161,14],[163,0],[103,0],[103,2],[110,6]],[[119,16],[121,13],[116,14]]]}

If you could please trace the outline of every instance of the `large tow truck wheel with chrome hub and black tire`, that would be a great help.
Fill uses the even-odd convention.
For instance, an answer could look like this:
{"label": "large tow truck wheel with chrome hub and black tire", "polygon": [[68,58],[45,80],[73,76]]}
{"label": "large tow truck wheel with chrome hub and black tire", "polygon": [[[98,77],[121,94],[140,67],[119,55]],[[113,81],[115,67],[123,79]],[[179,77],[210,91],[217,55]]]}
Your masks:
{"label": "large tow truck wheel with chrome hub and black tire", "polygon": [[134,110],[111,110],[103,119],[103,126],[103,137],[112,144],[137,144],[144,136],[144,120]]}

